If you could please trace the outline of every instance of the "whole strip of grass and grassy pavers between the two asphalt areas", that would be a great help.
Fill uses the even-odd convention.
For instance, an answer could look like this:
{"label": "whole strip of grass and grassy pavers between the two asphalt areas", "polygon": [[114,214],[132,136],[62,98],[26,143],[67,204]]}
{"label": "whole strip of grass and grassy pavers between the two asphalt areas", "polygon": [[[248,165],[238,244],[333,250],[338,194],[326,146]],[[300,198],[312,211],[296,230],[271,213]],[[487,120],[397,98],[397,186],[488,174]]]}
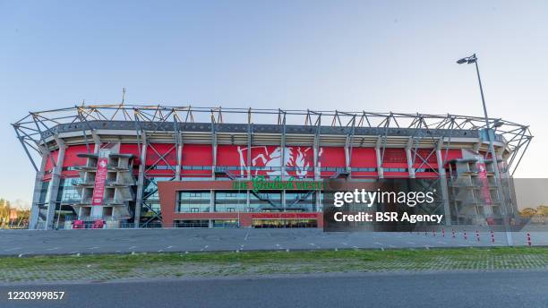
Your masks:
{"label": "whole strip of grass and grassy pavers between the two asphalt areas", "polygon": [[544,247],[89,254],[0,258],[0,281],[547,267]]}

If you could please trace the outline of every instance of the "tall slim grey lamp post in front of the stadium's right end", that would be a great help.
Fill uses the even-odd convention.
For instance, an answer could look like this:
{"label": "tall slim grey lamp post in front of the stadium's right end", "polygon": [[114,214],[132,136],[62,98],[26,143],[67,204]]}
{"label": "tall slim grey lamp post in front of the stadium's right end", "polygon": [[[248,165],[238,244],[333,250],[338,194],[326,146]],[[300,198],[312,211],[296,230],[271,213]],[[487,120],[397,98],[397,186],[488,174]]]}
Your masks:
{"label": "tall slim grey lamp post in front of the stadium's right end", "polygon": [[[489,151],[491,152],[492,157],[492,166],[494,171],[494,181],[497,186],[497,192],[499,193],[499,200],[501,201],[501,215],[502,215],[502,223],[504,225],[504,230],[506,231],[506,241],[509,246],[513,245],[512,241],[512,235],[509,232],[509,226],[508,226],[508,219],[506,217],[506,202],[504,198],[504,193],[502,192],[502,186],[501,186],[501,175],[499,173],[499,164],[497,160],[497,153],[494,150],[493,145],[493,138],[494,138],[494,132],[493,135],[491,134],[491,124],[489,123],[489,116],[487,116],[487,106],[485,105],[485,98],[484,98],[484,87],[482,86],[482,79],[480,77],[479,73],[479,67],[477,66],[477,56],[467,56],[461,59],[458,59],[457,64],[475,64],[475,73],[477,73],[477,81],[480,86],[480,93],[482,95],[482,103],[484,104],[484,116],[485,116],[485,130],[487,132],[487,139],[489,140]],[[501,126],[501,122],[495,121],[493,126],[495,129],[497,127]]]}

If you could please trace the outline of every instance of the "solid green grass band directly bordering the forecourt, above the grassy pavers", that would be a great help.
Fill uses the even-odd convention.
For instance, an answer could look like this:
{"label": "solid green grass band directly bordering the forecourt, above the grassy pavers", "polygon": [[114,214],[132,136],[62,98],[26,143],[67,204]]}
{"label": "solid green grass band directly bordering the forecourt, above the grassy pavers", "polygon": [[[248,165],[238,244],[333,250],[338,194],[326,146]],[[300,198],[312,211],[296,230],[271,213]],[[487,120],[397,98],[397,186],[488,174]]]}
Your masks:
{"label": "solid green grass band directly bordering the forecourt, above the grassy pavers", "polygon": [[292,252],[189,252],[189,253],[137,253],[137,254],[89,254],[66,256],[31,256],[26,258],[0,258],[0,270],[47,267],[56,265],[100,265],[109,270],[120,266],[152,266],[164,263],[240,263],[258,264],[294,261],[432,261],[448,257],[455,261],[470,261],[486,256],[537,255],[548,258],[548,248],[494,247],[489,249],[458,248],[430,250],[339,250],[339,251],[292,251]]}

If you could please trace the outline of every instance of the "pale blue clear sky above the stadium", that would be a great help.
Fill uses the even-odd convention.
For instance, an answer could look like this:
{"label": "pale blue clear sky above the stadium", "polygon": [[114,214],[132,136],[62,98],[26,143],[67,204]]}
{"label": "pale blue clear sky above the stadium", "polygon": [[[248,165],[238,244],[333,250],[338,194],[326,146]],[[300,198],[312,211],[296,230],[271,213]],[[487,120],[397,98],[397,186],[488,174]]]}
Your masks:
{"label": "pale blue clear sky above the stadium", "polygon": [[547,177],[545,1],[0,0],[0,196],[30,201],[10,123],[81,103],[423,112],[530,124]]}

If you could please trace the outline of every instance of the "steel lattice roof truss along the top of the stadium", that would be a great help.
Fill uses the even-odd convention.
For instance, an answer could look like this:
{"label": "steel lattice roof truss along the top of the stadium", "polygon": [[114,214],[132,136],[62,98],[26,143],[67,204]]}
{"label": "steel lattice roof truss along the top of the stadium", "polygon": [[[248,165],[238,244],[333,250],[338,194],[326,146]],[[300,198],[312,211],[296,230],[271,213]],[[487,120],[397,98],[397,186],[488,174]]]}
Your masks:
{"label": "steel lattice roof truss along the top of the stadium", "polygon": [[[261,124],[254,124],[261,123]],[[419,141],[430,139],[438,141],[445,149],[443,162],[447,161],[451,138],[455,138],[459,131],[474,132],[480,136],[486,128],[484,117],[457,116],[457,115],[427,115],[404,113],[373,113],[373,112],[343,112],[326,110],[293,110],[293,109],[255,109],[255,108],[227,108],[227,107],[168,107],[162,105],[81,105],[40,112],[30,112],[28,116],[12,124],[21,142],[23,149],[30,158],[32,166],[38,171],[37,163],[31,155],[32,150],[44,155],[50,150],[47,138],[55,137],[58,128],[76,127],[82,132],[86,145],[89,147],[89,133],[97,130],[98,123],[105,122],[132,122],[136,131],[138,144],[147,142],[147,139],[157,133],[169,131],[174,134],[175,148],[179,149],[183,141],[181,132],[184,124],[210,124],[212,144],[216,144],[219,127],[223,124],[243,124],[247,128],[248,145],[253,140],[253,127],[257,125],[281,127],[281,144],[285,146],[287,127],[297,125],[310,128],[313,132],[313,143],[317,147],[323,131],[333,132],[330,128],[340,128],[337,132],[346,135],[347,149],[352,152],[354,144],[360,144],[359,135],[374,134],[378,136],[377,144],[381,146],[381,158],[384,157],[390,133],[399,130],[408,130],[407,148],[411,150],[413,160],[419,158],[421,167],[428,167],[428,158],[435,155],[435,149],[421,156],[417,151]],[[489,126],[494,131],[495,141],[503,141],[509,153],[508,165],[510,175],[516,171],[523,158],[533,135],[529,127],[516,124],[500,118],[489,119]],[[365,130],[364,128],[369,129]],[[362,130],[362,131],[360,131]],[[146,133],[145,133],[146,131]],[[359,133],[359,132],[362,133]],[[440,142],[441,141],[441,142]],[[152,148],[151,150],[154,150]],[[160,153],[158,160],[163,159]],[[165,153],[164,153],[165,155]],[[50,156],[51,157],[51,156]],[[382,161],[382,160],[381,160]],[[52,163],[55,162],[52,159]],[[179,164],[180,165],[180,164]],[[179,168],[178,166],[177,168]]]}

